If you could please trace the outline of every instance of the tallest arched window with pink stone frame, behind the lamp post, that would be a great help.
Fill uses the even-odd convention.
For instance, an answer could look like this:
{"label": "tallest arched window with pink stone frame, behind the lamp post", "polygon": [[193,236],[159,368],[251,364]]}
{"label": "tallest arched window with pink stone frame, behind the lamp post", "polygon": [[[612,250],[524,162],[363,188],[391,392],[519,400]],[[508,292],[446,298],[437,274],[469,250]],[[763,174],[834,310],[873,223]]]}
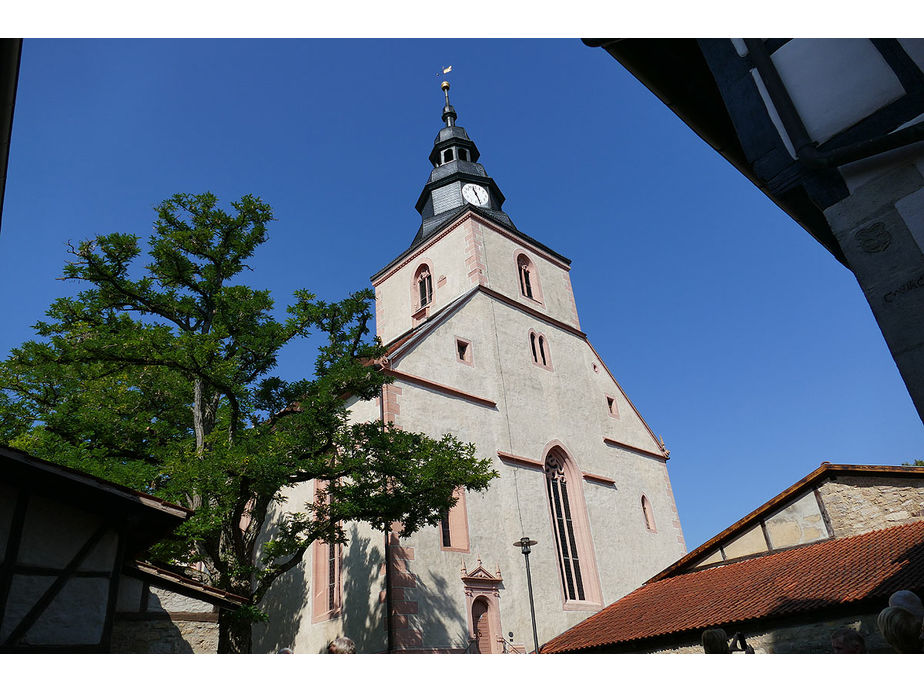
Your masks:
{"label": "tallest arched window with pink stone frame, behind the lamp post", "polygon": [[553,448],[546,456],[545,480],[565,600],[596,601],[596,571],[582,517],[580,477],[561,448]]}

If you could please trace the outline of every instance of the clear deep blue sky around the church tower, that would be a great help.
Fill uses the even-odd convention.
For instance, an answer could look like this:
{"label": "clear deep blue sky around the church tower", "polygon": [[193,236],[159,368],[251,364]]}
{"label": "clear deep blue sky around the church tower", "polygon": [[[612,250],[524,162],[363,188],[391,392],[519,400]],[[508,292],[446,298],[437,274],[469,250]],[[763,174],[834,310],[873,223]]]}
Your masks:
{"label": "clear deep blue sky around the church tower", "polygon": [[[924,457],[853,278],[601,49],[578,40],[26,40],[0,230],[0,352],[66,243],[146,237],[175,192],[273,205],[246,281],[335,300],[411,242],[453,65],[459,125],[671,450],[694,548],[822,461]],[[283,377],[312,365],[298,345]]]}

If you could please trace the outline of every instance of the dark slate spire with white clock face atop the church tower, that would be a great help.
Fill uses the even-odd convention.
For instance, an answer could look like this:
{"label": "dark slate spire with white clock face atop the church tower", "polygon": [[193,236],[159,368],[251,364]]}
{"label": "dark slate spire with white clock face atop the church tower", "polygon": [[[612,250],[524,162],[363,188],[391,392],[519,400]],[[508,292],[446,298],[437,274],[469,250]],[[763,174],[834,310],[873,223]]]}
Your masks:
{"label": "dark slate spire with white clock face atop the church tower", "polygon": [[456,109],[449,103],[449,82],[440,85],[446,99],[442,119],[445,126],[437,133],[430,151],[433,170],[417,199],[421,224],[411,247],[423,242],[467,209],[509,229],[516,230],[501,205],[504,195],[494,180],[478,163],[478,147],[456,125]]}

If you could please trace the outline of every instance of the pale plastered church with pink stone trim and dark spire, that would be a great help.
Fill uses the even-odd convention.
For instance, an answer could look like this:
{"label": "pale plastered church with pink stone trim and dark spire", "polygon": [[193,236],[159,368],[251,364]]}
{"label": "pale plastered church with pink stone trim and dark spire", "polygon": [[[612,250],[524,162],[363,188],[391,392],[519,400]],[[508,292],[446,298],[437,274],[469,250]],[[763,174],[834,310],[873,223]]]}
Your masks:
{"label": "pale plastered church with pink stone trim and dark spire", "polygon": [[420,227],[371,278],[394,382],[348,405],[471,442],[500,476],[409,538],[356,524],[317,543],[267,594],[258,652],[340,635],[366,653],[532,652],[686,553],[669,453],[581,331],[570,260],[503,211],[442,89]]}

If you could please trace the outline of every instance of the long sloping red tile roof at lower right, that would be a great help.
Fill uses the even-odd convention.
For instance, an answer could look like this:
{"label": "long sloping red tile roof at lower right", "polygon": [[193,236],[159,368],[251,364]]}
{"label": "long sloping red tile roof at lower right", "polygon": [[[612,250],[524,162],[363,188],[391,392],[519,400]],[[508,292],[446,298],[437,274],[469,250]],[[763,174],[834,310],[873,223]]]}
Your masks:
{"label": "long sloping red tile roof at lower right", "polygon": [[924,586],[924,522],[648,583],[546,643],[575,652],[815,611]]}

